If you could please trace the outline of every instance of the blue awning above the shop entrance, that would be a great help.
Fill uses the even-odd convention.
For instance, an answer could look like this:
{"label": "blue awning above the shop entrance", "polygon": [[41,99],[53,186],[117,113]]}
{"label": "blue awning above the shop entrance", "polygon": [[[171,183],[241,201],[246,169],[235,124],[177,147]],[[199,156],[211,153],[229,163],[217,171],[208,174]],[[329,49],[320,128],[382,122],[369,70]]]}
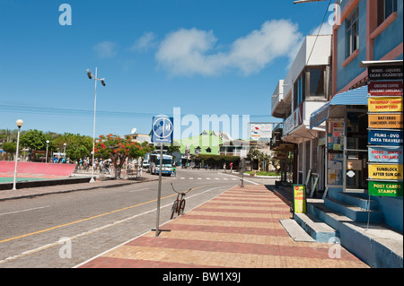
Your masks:
{"label": "blue awning above the shop entrance", "polygon": [[312,112],[310,117],[310,129],[320,126],[329,118],[329,108],[336,105],[367,105],[367,85],[351,91],[345,91],[336,94],[332,100],[329,100],[321,108]]}

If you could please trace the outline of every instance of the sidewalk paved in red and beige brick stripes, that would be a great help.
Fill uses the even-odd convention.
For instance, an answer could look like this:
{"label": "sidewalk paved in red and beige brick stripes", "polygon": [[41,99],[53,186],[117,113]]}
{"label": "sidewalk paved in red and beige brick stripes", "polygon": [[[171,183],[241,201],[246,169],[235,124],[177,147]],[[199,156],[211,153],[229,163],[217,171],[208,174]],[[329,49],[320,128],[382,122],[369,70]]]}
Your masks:
{"label": "sidewalk paved in red and beige brick stripes", "polygon": [[[80,268],[367,268],[341,247],[295,242],[279,220],[289,206],[265,186],[235,186],[153,231],[78,265]],[[338,246],[339,247],[339,246]]]}

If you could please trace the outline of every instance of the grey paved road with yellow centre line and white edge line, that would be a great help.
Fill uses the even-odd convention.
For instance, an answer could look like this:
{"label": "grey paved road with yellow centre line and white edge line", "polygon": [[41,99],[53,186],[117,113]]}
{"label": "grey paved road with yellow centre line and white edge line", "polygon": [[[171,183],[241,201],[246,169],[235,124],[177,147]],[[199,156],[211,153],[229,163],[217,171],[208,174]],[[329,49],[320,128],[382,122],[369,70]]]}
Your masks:
{"label": "grey paved road with yellow centre line and white edge line", "polygon": [[[240,184],[240,178],[178,169],[177,178],[162,181],[161,225],[175,197],[171,182],[178,190],[193,188],[187,211]],[[257,183],[262,179],[244,182]],[[72,267],[154,229],[157,186],[152,181],[0,202],[0,267]]]}

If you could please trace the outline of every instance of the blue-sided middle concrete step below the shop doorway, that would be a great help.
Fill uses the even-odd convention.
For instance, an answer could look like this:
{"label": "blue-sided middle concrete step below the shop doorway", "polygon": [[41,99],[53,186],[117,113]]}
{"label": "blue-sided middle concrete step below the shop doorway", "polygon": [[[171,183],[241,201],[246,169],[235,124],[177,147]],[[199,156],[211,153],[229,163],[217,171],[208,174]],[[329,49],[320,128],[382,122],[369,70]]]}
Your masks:
{"label": "blue-sided middle concrete step below the shop doorway", "polygon": [[368,221],[368,216],[370,222],[373,223],[379,223],[383,221],[383,216],[382,212],[378,210],[370,210],[367,211],[366,209],[363,209],[359,206],[352,205],[352,204],[347,204],[345,202],[341,202],[337,199],[333,198],[326,198],[324,200],[325,206],[329,207],[330,209],[333,209],[348,218],[352,219],[353,221],[358,221],[358,222],[367,222]]}

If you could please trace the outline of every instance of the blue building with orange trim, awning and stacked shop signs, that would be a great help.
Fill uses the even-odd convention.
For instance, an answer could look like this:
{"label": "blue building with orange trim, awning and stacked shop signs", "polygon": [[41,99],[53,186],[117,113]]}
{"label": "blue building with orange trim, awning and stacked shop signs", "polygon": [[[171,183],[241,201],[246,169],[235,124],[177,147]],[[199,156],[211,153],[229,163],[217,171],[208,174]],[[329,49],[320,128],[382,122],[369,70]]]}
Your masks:
{"label": "blue building with orange trim, awning and stacked shop signs", "polygon": [[[332,95],[312,112],[310,120],[311,128],[326,127],[325,187],[334,201],[324,204],[338,207],[338,193],[362,194],[369,204],[372,199],[377,205],[368,221],[402,231],[403,2],[346,0],[338,4],[340,22],[332,35]],[[370,66],[381,70],[398,66],[399,73],[393,79],[376,79]],[[369,92],[375,82],[391,81],[399,90],[392,98],[380,89]],[[396,123],[390,126],[389,122]]]}

